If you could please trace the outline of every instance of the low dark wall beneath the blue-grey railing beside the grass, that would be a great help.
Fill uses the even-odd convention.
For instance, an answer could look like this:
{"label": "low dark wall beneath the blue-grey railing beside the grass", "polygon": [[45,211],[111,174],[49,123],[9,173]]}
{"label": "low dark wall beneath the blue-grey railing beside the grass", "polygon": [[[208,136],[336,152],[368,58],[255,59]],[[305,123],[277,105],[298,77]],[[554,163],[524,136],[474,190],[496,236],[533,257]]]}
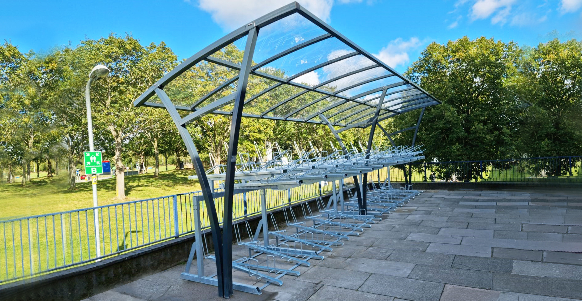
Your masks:
{"label": "low dark wall beneath the blue-grey railing beside the grass", "polygon": [[[329,196],[327,194],[322,198],[327,201]],[[312,210],[317,211],[315,199],[306,202]],[[300,203],[294,204],[292,208],[297,217],[303,216]],[[278,224],[285,224],[282,209],[273,211],[273,214]],[[243,221],[249,221],[251,229],[255,229],[260,220],[261,215],[257,215]],[[248,238],[248,233],[243,229],[246,227],[241,228],[241,235]],[[209,249],[212,250],[210,229],[205,231],[204,235],[208,236],[206,241],[209,243]],[[0,300],[83,300],[184,263],[190,253],[192,243],[194,243],[194,234],[65,271],[3,284],[0,285]]]}

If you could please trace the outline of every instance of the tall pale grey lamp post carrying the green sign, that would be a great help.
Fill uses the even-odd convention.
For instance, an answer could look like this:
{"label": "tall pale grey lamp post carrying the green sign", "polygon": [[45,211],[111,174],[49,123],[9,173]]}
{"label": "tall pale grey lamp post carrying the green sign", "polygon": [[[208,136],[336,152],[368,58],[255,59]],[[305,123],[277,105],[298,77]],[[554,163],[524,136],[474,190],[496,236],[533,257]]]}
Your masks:
{"label": "tall pale grey lamp post carrying the green sign", "polygon": [[[109,74],[109,69],[104,65],[97,65],[89,73],[89,80],[87,81],[87,86],[85,86],[85,104],[87,105],[87,128],[89,130],[89,151],[95,151],[93,145],[93,120],[91,119],[91,100],[90,100],[90,89],[91,82],[94,79],[100,79]],[[95,178],[94,178],[95,177]],[[93,217],[95,219],[95,250],[97,250],[97,257],[101,257],[101,239],[99,237],[99,213],[97,210],[97,175],[91,175],[91,180],[93,182]]]}

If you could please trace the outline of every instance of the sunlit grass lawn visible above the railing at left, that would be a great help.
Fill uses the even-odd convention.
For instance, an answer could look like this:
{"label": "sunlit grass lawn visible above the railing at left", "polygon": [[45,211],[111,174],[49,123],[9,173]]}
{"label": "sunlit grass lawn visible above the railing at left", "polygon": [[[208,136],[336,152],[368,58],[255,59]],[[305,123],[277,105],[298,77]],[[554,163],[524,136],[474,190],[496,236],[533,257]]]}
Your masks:
{"label": "sunlit grass lawn visible above the railing at left", "polygon": [[[102,206],[197,191],[200,190],[198,181],[187,178],[194,173],[194,169],[183,169],[161,171],[158,178],[154,178],[152,171],[143,175],[126,176],[126,200],[114,199],[115,178],[102,179],[97,183],[98,202]],[[69,183],[64,172],[52,178],[31,179],[26,187],[20,186],[20,182],[0,185],[0,220],[93,206],[91,182],[77,183],[74,191],[68,188]]]}

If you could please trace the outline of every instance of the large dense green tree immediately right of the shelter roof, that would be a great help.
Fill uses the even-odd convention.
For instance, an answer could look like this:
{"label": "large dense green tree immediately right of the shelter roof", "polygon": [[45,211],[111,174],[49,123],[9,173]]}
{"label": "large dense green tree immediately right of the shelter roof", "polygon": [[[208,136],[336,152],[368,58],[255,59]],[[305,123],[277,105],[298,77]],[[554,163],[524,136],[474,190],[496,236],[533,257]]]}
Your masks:
{"label": "large dense green tree immediately right of the shelter roof", "polygon": [[[426,109],[416,144],[428,161],[496,160],[519,156],[523,100],[514,92],[521,50],[513,42],[467,37],[432,43],[406,75],[442,101]],[[419,111],[394,118],[390,130],[416,124]],[[395,137],[410,144],[413,131]]]}

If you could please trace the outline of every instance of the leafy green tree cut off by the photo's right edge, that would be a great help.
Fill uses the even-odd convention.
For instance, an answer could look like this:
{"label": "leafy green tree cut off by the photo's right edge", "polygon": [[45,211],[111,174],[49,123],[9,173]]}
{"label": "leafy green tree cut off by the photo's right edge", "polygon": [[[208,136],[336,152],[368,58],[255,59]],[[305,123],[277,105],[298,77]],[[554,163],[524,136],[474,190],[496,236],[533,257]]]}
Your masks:
{"label": "leafy green tree cut off by the photo's right edge", "polygon": [[526,108],[524,153],[555,157],[582,151],[582,41],[540,43],[521,64]]}

